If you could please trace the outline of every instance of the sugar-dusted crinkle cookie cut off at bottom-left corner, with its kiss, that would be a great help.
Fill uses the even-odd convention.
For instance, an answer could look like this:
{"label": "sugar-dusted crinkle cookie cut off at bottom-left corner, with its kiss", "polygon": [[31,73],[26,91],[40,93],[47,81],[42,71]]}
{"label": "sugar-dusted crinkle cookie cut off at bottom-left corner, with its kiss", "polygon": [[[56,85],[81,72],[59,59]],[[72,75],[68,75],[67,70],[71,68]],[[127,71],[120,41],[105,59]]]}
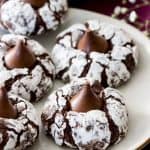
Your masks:
{"label": "sugar-dusted crinkle cookie cut off at bottom-left corner, with its kiss", "polygon": [[0,149],[25,150],[39,135],[39,120],[32,104],[0,87]]}

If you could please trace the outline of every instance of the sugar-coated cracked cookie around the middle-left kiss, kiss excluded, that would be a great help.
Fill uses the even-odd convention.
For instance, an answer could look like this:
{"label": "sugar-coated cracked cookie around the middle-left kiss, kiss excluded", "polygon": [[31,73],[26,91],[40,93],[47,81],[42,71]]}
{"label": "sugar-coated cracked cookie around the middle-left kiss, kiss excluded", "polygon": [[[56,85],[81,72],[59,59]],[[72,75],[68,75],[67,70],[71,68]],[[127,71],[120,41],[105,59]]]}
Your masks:
{"label": "sugar-coated cracked cookie around the middle-left kiss, kiss excluded", "polygon": [[[36,56],[36,65],[29,68],[8,69],[5,66],[6,51],[18,39],[26,42]],[[55,67],[47,51],[36,41],[19,35],[3,35],[0,40],[0,85],[29,101],[40,100],[53,86]]]}

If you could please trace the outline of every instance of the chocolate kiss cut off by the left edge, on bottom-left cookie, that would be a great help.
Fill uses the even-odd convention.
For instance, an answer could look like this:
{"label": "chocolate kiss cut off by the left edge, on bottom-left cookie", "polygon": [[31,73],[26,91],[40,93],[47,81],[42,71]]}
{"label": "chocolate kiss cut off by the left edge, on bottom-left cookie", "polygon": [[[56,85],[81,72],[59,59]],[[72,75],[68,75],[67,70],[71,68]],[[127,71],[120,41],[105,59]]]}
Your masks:
{"label": "chocolate kiss cut off by the left edge, on bottom-left cookie", "polygon": [[5,88],[0,88],[0,117],[15,119],[17,112],[8,100]]}

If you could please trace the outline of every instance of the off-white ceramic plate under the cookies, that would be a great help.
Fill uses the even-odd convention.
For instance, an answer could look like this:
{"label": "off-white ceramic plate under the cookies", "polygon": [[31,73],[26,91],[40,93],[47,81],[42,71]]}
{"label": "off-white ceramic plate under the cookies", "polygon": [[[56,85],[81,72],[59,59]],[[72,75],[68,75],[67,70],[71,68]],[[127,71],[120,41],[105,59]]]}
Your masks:
{"label": "off-white ceramic plate under the cookies", "polygon": [[[132,79],[119,90],[126,98],[126,105],[129,112],[129,132],[122,142],[113,146],[112,150],[133,150],[139,148],[143,143],[150,142],[150,40],[137,29],[114,20],[110,17],[79,9],[70,9],[66,23],[56,32],[49,32],[39,37],[33,37],[43,44],[49,51],[55,43],[56,35],[74,23],[84,22],[88,19],[100,19],[101,21],[115,24],[126,30],[134,41],[138,44],[140,51],[140,61]],[[60,81],[56,81],[54,89],[62,86]],[[52,91],[52,90],[51,90]],[[43,100],[35,107],[39,116],[44,102]],[[41,131],[40,137],[31,150],[66,150],[66,147],[57,146],[53,140],[47,138]]]}

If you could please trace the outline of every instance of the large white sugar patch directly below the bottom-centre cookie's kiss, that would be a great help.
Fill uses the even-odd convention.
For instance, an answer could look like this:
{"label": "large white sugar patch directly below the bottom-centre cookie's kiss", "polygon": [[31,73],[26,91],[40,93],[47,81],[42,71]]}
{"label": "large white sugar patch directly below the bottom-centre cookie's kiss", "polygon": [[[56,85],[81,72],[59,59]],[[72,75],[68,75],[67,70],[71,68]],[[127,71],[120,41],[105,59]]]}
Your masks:
{"label": "large white sugar patch directly below the bottom-centre cookie's kiss", "polygon": [[[68,112],[67,119],[73,139],[79,149],[106,149],[109,145],[111,133],[108,120],[103,112],[97,110],[87,113]],[[103,142],[104,139],[105,142]]]}

